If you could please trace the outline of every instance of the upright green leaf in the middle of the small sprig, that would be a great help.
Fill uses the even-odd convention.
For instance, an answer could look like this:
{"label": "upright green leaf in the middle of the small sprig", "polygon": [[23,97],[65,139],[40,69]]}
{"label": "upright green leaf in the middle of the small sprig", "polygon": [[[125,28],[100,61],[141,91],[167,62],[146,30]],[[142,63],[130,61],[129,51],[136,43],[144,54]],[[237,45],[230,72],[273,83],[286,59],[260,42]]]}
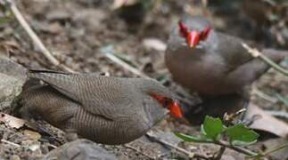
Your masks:
{"label": "upright green leaf in the middle of the small sprig", "polygon": [[218,135],[224,131],[224,125],[220,118],[206,116],[202,124],[202,133],[212,140],[217,140]]}

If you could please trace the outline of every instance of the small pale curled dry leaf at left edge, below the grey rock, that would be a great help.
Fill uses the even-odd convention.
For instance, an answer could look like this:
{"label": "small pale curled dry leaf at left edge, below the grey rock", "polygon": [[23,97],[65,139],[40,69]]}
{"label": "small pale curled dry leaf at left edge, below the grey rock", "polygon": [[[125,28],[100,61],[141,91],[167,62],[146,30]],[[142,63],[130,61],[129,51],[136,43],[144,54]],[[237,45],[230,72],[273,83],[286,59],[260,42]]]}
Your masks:
{"label": "small pale curled dry leaf at left edge, below the grey rock", "polygon": [[3,122],[7,126],[10,126],[11,128],[16,128],[16,129],[21,128],[26,123],[26,121],[21,118],[10,116],[2,112],[0,112],[0,122]]}

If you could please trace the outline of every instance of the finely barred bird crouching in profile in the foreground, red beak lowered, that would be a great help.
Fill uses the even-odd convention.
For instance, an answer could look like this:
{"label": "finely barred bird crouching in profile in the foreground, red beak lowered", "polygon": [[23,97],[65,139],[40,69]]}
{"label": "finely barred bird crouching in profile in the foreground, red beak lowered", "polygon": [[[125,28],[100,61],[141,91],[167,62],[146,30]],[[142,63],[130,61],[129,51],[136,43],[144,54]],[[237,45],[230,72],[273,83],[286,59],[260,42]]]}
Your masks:
{"label": "finely barred bird crouching in profile in the foreground, red beak lowered", "polygon": [[107,145],[143,136],[167,114],[182,112],[176,96],[153,79],[29,70],[30,80],[45,84],[21,92],[24,118],[40,117],[66,132]]}

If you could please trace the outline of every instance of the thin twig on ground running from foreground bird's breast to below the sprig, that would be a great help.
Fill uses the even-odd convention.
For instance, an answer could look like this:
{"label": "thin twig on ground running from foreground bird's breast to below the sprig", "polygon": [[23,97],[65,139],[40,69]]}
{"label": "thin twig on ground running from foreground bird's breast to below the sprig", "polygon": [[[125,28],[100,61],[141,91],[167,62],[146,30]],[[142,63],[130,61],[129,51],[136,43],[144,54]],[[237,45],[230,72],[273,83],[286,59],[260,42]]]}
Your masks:
{"label": "thin twig on ground running from foreground bird's breast to below the sprig", "polygon": [[168,146],[169,148],[175,148],[177,151],[179,151],[179,152],[181,152],[181,153],[184,153],[186,156],[196,157],[196,158],[202,158],[202,159],[206,159],[206,160],[209,160],[209,159],[210,159],[210,157],[203,156],[203,155],[200,155],[200,154],[197,154],[197,153],[189,152],[189,151],[185,150],[184,148],[179,148],[179,147],[177,147],[176,145],[169,143],[168,141],[160,140],[160,139],[159,139],[157,136],[155,136],[152,132],[147,132],[146,135],[148,135],[148,136],[149,136],[150,138],[152,138],[153,140],[157,140],[157,141],[159,141],[160,143],[162,143],[163,145]]}

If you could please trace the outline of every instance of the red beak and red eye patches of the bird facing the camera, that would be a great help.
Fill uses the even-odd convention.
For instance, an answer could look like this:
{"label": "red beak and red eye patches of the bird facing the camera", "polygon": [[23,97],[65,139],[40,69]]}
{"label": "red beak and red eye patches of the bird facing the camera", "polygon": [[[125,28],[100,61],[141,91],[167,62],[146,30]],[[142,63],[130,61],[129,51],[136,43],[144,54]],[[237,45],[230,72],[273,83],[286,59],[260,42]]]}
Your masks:
{"label": "red beak and red eye patches of the bird facing the camera", "polygon": [[204,28],[201,31],[189,30],[182,20],[178,21],[179,35],[185,38],[186,44],[193,48],[201,41],[205,41],[210,35],[210,27]]}

